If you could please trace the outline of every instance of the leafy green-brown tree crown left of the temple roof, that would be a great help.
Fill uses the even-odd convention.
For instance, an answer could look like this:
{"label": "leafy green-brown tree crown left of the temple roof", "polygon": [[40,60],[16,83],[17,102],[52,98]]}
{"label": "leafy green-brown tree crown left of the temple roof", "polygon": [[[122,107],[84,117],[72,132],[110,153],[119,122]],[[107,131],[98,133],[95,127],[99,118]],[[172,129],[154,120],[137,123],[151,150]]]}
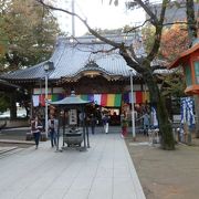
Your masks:
{"label": "leafy green-brown tree crown left of the temple roof", "polygon": [[1,72],[46,60],[60,29],[51,12],[34,0],[0,0]]}

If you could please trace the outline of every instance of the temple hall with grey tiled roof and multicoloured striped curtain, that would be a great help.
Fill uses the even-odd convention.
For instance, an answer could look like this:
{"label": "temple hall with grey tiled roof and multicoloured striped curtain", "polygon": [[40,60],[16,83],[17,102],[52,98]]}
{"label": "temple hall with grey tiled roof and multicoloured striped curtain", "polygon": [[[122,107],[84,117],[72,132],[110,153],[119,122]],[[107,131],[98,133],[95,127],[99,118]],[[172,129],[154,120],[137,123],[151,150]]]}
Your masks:
{"label": "temple hall with grey tiled roof and multicoloured striped curtain", "polygon": [[[133,44],[137,56],[144,55],[140,38],[135,34],[108,35],[109,40]],[[48,67],[46,67],[48,66]],[[52,56],[34,66],[2,75],[2,78],[31,92],[32,107],[44,106],[75,91],[83,100],[119,115],[130,108],[130,76],[135,107],[149,103],[149,93],[142,76],[129,67],[118,50],[93,35],[59,38]],[[48,84],[48,91],[46,91]]]}

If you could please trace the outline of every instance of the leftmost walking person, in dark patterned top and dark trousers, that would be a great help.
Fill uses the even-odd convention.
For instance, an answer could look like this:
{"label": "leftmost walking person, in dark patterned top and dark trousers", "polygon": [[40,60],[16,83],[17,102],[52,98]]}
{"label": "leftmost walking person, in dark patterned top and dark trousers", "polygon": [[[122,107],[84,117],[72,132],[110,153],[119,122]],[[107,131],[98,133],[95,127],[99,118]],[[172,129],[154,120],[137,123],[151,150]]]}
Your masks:
{"label": "leftmost walking person, in dark patterned top and dark trousers", "polygon": [[38,116],[33,116],[31,119],[31,133],[34,137],[35,149],[38,149],[38,147],[39,147],[39,142],[40,142],[42,128],[43,128],[42,122],[39,119]]}

